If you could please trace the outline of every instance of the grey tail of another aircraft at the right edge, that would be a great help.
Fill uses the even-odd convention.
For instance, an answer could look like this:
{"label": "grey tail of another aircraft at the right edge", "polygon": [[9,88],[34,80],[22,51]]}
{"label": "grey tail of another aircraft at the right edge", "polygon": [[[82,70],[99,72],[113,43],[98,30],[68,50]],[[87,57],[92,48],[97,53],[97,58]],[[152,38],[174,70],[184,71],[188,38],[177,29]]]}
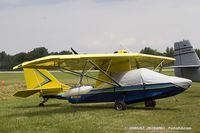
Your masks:
{"label": "grey tail of another aircraft at the right edge", "polygon": [[188,40],[174,44],[174,72],[178,77],[200,81],[200,61]]}

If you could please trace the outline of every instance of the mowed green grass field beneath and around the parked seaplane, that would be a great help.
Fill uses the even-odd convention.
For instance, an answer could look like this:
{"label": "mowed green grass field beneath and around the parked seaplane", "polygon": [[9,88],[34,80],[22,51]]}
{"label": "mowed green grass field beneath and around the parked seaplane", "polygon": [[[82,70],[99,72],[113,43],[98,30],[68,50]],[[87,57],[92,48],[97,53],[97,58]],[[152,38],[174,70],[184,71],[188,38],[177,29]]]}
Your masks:
{"label": "mowed green grass field beneath and around the parked seaplane", "polygon": [[[164,71],[173,75],[172,71]],[[53,73],[63,82],[76,83],[77,77]],[[95,75],[95,74],[94,74]],[[154,109],[145,108],[143,103],[128,105],[126,111],[116,111],[113,103],[70,104],[65,100],[52,99],[45,107],[38,107],[38,95],[17,98],[12,94],[25,89],[22,73],[2,74],[4,87],[0,91],[1,132],[69,132],[69,133],[116,133],[149,132],[148,127],[164,127],[150,132],[200,132],[200,83],[193,83],[187,91],[157,100]],[[146,130],[128,130],[128,128]],[[191,127],[192,130],[170,130],[168,127]]]}

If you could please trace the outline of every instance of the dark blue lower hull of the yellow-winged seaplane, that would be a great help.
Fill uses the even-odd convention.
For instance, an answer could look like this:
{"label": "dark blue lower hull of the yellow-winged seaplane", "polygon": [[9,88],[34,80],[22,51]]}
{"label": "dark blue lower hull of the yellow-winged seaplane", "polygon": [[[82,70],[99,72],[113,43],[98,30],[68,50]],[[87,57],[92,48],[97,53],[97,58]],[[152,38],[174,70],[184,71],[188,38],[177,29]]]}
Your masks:
{"label": "dark blue lower hull of the yellow-winged seaplane", "polygon": [[[91,90],[88,94],[68,98],[70,103],[96,103],[124,101],[127,104],[149,99],[160,99],[173,96],[185,91],[174,84],[154,84],[144,86],[126,86]],[[57,97],[58,98],[58,97]],[[62,97],[59,97],[62,98]]]}

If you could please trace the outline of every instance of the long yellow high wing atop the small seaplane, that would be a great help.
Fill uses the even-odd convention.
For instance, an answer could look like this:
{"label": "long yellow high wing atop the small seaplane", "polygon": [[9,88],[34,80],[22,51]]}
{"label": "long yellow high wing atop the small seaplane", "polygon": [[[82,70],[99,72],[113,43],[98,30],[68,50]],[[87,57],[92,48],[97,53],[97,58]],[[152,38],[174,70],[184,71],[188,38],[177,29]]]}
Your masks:
{"label": "long yellow high wing atop the small seaplane", "polygon": [[[98,79],[112,82],[106,76],[112,72],[129,71],[135,68],[154,67],[159,64],[170,63],[174,58],[154,56],[140,53],[114,53],[114,54],[79,54],[79,55],[51,55],[32,61],[24,62],[13,69],[32,68],[32,69],[57,69],[65,70],[100,70]],[[102,71],[104,73],[102,73]],[[29,77],[30,75],[28,75]],[[36,82],[36,81],[35,81]],[[103,82],[97,81],[96,86]],[[34,85],[32,85],[33,88]],[[50,85],[53,88],[59,88],[57,85]],[[56,87],[55,87],[56,86]],[[49,88],[49,86],[46,86]],[[38,88],[37,88],[38,89]],[[40,89],[41,90],[41,89]]]}

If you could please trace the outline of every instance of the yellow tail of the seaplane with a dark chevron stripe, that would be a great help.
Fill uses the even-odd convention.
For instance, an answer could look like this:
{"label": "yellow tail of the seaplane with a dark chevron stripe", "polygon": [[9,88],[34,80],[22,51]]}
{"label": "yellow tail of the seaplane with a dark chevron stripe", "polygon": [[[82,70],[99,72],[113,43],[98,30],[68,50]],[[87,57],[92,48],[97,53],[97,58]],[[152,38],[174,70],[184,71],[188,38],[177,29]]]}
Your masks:
{"label": "yellow tail of the seaplane with a dark chevron stripe", "polygon": [[14,96],[28,97],[37,92],[42,95],[53,95],[67,90],[70,87],[60,83],[46,69],[24,68],[27,90],[18,91]]}

